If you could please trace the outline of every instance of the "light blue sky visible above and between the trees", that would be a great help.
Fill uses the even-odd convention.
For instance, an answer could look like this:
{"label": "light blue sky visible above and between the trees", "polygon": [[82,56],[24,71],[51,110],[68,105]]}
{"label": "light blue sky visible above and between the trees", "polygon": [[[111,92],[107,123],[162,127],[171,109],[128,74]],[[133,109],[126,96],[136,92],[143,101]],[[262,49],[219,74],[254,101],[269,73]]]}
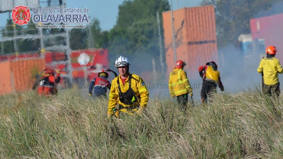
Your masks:
{"label": "light blue sky visible above and between the trees", "polygon": [[[65,0],[66,7],[71,8],[89,8],[88,14],[91,18],[96,17],[100,22],[102,30],[110,30],[116,23],[118,15],[118,6],[124,0]],[[173,10],[184,7],[196,7],[202,0],[172,0]],[[178,2],[178,3],[177,3]],[[170,3],[170,0],[169,0]],[[9,17],[8,13],[0,14],[0,27],[5,26],[6,19]]]}

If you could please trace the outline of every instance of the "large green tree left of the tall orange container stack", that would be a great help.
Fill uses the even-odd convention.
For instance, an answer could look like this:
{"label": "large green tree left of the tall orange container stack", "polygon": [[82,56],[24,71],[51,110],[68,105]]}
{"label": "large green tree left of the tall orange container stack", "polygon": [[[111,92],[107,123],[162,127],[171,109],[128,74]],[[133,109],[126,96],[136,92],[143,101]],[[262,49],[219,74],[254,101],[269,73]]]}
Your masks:
{"label": "large green tree left of the tall orange container stack", "polygon": [[[170,9],[168,1],[124,1],[118,9],[116,25],[108,35],[110,58],[114,60],[118,55],[125,55],[134,57],[131,58],[134,62],[140,62],[138,57],[142,56],[149,58],[149,61],[155,58],[158,62],[160,51],[156,12],[160,14],[162,25],[161,13]],[[152,68],[151,64],[145,67],[148,70]]]}

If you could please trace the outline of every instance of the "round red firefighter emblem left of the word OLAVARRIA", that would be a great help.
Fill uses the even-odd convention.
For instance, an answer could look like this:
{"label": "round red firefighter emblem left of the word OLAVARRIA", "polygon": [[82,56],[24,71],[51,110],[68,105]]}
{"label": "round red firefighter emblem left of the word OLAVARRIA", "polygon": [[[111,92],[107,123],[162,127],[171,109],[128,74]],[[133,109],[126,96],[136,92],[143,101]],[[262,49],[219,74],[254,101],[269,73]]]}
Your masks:
{"label": "round red firefighter emblem left of the word OLAVARRIA", "polygon": [[25,6],[15,7],[12,12],[12,18],[15,24],[27,24],[30,19],[30,10]]}

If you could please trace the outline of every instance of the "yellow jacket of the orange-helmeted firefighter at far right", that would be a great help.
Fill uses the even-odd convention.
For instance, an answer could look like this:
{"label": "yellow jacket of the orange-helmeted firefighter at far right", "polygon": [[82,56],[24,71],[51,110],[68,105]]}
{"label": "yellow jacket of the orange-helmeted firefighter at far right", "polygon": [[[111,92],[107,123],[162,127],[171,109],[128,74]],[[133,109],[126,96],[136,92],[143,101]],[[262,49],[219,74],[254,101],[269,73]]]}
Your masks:
{"label": "yellow jacket of the orange-helmeted firefighter at far right", "polygon": [[278,73],[282,74],[283,70],[277,58],[264,58],[260,61],[257,72],[263,72],[264,84],[271,85],[279,82]]}

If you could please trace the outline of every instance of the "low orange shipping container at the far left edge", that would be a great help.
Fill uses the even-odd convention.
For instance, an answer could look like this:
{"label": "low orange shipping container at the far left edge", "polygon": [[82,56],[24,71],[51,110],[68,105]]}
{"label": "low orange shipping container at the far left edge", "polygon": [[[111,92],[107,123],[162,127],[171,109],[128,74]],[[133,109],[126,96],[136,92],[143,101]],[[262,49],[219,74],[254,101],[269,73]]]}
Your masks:
{"label": "low orange shipping container at the far left edge", "polygon": [[20,59],[0,63],[0,95],[13,91],[30,90],[34,76],[44,70],[45,60],[41,58]]}

